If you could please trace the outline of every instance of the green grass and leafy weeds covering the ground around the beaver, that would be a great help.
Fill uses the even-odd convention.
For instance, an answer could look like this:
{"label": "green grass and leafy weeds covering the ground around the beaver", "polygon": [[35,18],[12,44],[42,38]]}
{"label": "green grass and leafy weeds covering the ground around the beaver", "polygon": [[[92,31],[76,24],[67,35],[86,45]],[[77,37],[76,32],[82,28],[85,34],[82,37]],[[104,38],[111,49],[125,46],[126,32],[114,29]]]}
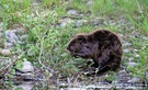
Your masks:
{"label": "green grass and leafy weeds covering the ground around the beaver", "polygon": [[[65,76],[72,76],[79,71],[80,68],[77,66],[82,66],[87,60],[73,58],[66,50],[69,41],[77,33],[89,33],[99,27],[130,35],[133,32],[139,32],[145,37],[148,33],[147,0],[94,0],[92,5],[86,5],[87,0],[43,0],[37,7],[33,5],[33,2],[34,0],[1,0],[0,21],[3,22],[3,31],[11,29],[15,23],[26,29],[29,40],[26,40],[25,45],[16,47],[19,49],[16,53],[26,50],[20,60],[25,58],[43,70],[50,66],[57,74]],[[94,18],[118,21],[118,18],[124,16],[135,29],[132,30],[128,25],[125,25],[127,23],[121,26],[117,24],[93,26],[89,23],[80,27],[73,27],[73,24],[68,24],[66,27],[56,26],[61,16],[68,16],[67,11],[70,9],[83,13],[82,19],[88,21]],[[88,15],[88,13],[90,14]],[[76,20],[73,19],[73,21]],[[134,60],[139,63],[138,66],[129,67],[128,70],[133,72],[133,76],[145,79],[146,67],[148,66],[148,41],[144,41],[143,37],[124,40],[132,42],[132,48],[137,48],[136,54],[140,55],[140,58],[134,57],[135,53],[124,55],[127,58],[134,57]],[[2,45],[0,46],[2,47]],[[126,59],[124,59],[124,63],[126,63]],[[111,74],[111,77],[114,76],[115,74]]]}

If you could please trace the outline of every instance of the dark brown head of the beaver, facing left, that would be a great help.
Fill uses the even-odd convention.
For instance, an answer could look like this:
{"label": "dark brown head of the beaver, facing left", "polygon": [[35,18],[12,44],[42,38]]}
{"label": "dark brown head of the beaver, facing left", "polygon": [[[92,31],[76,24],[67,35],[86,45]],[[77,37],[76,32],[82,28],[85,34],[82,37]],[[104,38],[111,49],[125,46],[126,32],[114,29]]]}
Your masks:
{"label": "dark brown head of the beaver, facing left", "polygon": [[93,56],[94,45],[95,44],[93,44],[92,42],[88,41],[87,35],[77,35],[69,43],[67,49],[75,57],[80,56],[82,58],[91,58]]}

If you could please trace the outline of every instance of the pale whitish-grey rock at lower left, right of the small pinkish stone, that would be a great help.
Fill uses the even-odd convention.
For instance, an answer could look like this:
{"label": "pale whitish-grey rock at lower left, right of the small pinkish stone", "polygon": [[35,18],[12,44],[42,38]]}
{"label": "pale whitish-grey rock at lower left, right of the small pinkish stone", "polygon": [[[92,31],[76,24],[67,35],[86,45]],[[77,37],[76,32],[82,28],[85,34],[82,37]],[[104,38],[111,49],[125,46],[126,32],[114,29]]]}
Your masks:
{"label": "pale whitish-grey rock at lower left, right of the small pinkish stone", "polygon": [[23,68],[20,68],[19,70],[22,71],[22,72],[32,72],[32,71],[34,71],[34,67],[31,64],[31,61],[24,61]]}

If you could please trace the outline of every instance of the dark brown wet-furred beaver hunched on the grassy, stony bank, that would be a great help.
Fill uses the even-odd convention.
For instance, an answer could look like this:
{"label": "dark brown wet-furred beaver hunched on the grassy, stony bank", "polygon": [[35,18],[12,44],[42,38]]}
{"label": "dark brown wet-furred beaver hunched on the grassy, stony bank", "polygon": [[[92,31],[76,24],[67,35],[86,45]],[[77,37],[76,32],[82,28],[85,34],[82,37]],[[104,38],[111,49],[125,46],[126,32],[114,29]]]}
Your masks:
{"label": "dark brown wet-furred beaver hunched on the grassy, stony bank", "polygon": [[93,66],[101,74],[117,70],[122,63],[122,42],[115,33],[109,30],[77,34],[67,49],[73,57],[93,59]]}

